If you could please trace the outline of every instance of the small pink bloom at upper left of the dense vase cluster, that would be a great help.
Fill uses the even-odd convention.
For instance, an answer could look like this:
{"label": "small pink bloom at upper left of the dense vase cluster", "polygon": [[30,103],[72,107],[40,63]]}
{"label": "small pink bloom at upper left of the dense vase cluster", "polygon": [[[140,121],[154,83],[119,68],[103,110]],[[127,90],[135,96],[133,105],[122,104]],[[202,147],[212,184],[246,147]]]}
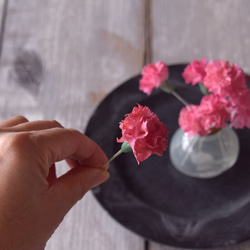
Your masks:
{"label": "small pink bloom at upper left of the dense vase cluster", "polygon": [[202,58],[200,61],[195,59],[184,69],[182,76],[185,83],[192,83],[192,85],[198,82],[203,82],[206,75],[205,68],[207,66],[206,58]]}

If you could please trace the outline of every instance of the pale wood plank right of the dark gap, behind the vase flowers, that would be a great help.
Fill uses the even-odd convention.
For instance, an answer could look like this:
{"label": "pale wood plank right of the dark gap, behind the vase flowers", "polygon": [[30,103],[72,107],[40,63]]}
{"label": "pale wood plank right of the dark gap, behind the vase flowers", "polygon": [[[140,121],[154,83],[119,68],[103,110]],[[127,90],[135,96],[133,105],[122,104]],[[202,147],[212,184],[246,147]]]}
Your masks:
{"label": "pale wood plank right of the dark gap, behind the vase flowers", "polygon": [[[222,59],[250,73],[248,0],[152,0],[152,58],[167,64]],[[150,250],[179,250],[157,243]],[[248,250],[250,241],[217,250]]]}

